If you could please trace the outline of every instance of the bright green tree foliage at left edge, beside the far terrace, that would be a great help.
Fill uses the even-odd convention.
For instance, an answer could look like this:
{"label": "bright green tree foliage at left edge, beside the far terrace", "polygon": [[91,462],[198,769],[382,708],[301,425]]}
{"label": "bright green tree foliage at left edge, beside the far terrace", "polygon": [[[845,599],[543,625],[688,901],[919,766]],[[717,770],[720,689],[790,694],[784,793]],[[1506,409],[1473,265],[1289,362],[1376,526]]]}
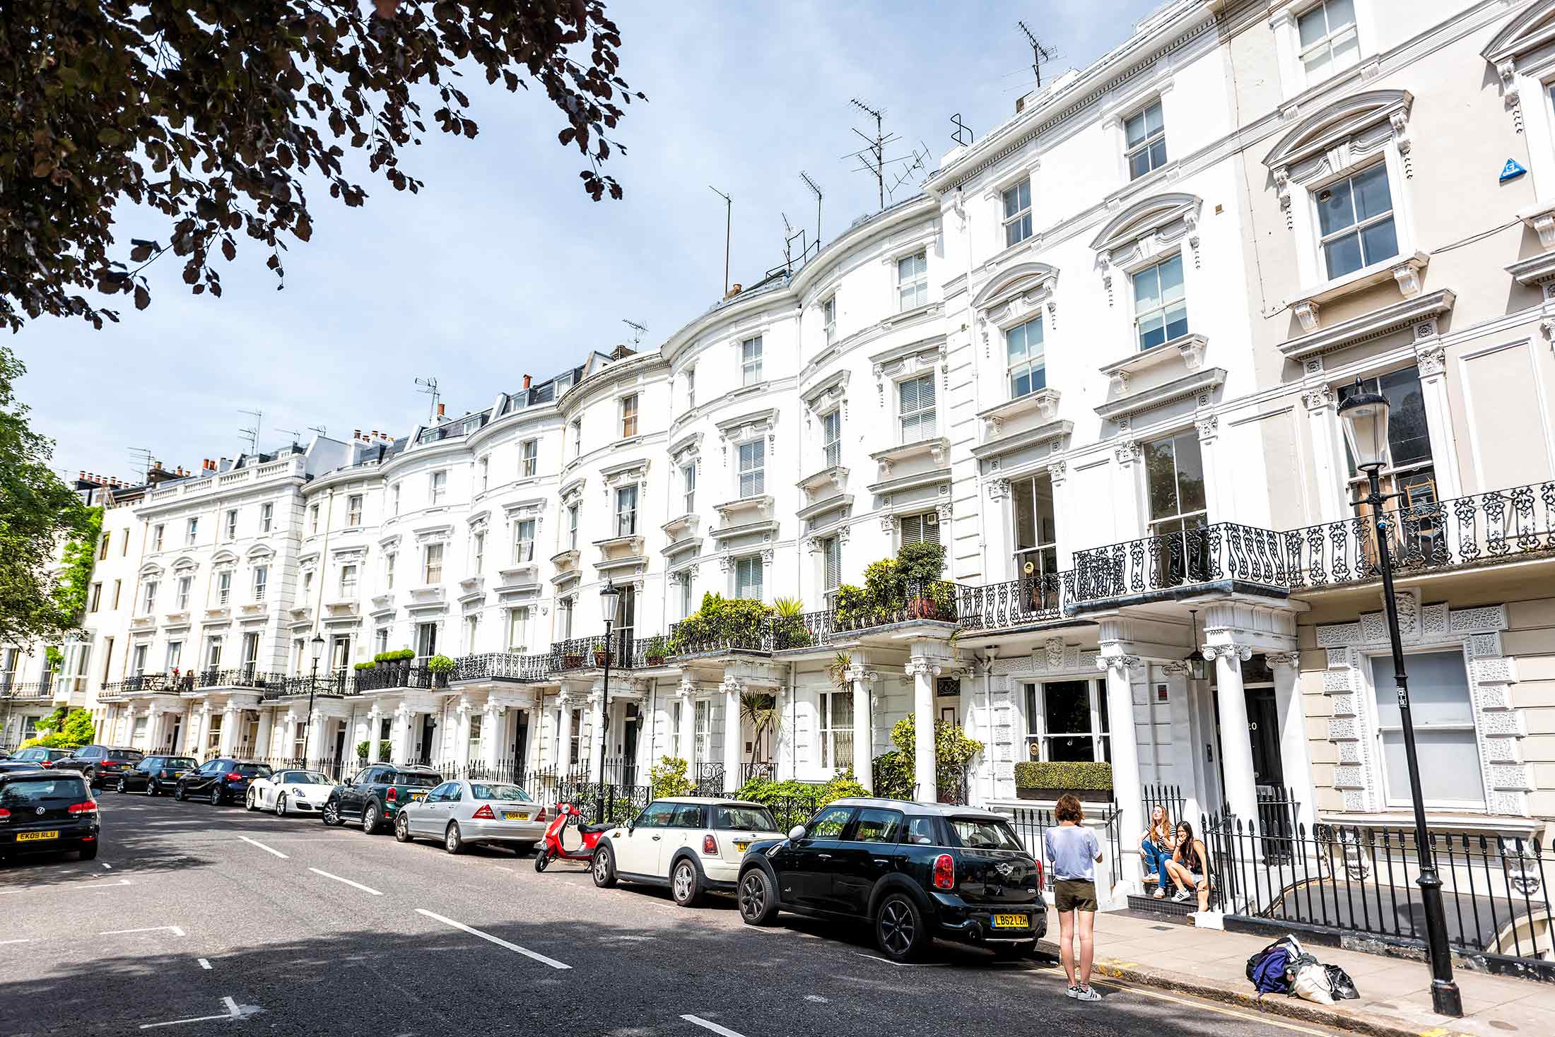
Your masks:
{"label": "bright green tree foliage at left edge, beside the far terrace", "polygon": [[[3,219],[0,213],[0,233]],[[0,281],[6,278],[3,253],[0,239]],[[92,516],[48,466],[54,443],[31,429],[28,407],[12,392],[25,370],[0,345],[0,644],[53,641],[75,628],[86,603],[86,577],[92,574],[92,547],[87,547],[86,577],[78,575],[68,558],[68,580],[50,572],[61,541],[86,539]],[[90,543],[96,544],[95,535]]]}

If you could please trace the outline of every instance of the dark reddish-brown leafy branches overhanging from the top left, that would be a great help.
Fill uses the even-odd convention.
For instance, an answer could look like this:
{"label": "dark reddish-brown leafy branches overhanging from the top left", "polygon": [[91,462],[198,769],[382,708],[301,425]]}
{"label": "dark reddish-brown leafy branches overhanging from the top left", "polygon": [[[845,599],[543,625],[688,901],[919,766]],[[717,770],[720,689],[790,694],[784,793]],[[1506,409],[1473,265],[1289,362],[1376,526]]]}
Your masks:
{"label": "dark reddish-brown leafy branches overhanging from the top left", "polygon": [[[313,235],[305,185],[367,199],[344,148],[418,191],[400,151],[428,132],[423,104],[442,132],[476,135],[456,86],[465,70],[508,92],[538,86],[564,117],[557,140],[588,162],[583,190],[620,197],[600,174],[625,151],[606,132],[642,95],[617,75],[603,0],[6,0],[3,11],[0,326],[44,312],[118,320],[87,303],[87,288],[143,309],[140,269],[165,250],[183,257],[194,294],[221,295],[211,260],[232,261],[239,235],[283,277],[283,238]],[[168,221],[166,249],[131,238],[124,257],[120,201]]]}

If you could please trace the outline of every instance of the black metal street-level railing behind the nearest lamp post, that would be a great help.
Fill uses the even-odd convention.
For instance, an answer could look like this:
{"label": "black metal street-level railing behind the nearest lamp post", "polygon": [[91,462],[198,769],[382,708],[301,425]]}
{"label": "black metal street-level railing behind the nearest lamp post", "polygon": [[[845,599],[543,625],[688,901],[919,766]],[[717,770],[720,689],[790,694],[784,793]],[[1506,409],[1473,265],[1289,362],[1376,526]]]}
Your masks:
{"label": "black metal street-level railing behind the nearest lamp post", "polygon": [[[1424,944],[1413,830],[1284,830],[1238,818],[1211,818],[1204,829],[1228,913]],[[1522,836],[1432,832],[1429,840],[1454,948],[1546,962],[1555,955],[1555,850]]]}

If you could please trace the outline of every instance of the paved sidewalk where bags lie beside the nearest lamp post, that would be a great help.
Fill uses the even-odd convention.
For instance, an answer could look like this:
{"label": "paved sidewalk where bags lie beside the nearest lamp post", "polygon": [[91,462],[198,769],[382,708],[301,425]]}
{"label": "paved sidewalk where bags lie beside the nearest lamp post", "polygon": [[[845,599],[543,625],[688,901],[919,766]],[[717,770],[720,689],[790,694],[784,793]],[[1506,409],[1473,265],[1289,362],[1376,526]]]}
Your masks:
{"label": "paved sidewalk where bags lie beside the nearest lamp post", "polygon": [[[1042,948],[1053,955],[1057,955],[1057,917],[1050,913],[1050,939]],[[1431,967],[1424,961],[1336,947],[1308,950],[1325,965],[1334,964],[1348,972],[1361,990],[1359,1000],[1333,1006],[1283,995],[1258,1000],[1247,981],[1247,958],[1272,942],[1269,936],[1102,913],[1096,916],[1095,972],[1376,1037],[1507,1037],[1518,1032],[1532,1037],[1552,1032],[1552,984],[1455,969],[1454,978],[1463,993],[1463,1018],[1446,1018],[1431,1011]]]}

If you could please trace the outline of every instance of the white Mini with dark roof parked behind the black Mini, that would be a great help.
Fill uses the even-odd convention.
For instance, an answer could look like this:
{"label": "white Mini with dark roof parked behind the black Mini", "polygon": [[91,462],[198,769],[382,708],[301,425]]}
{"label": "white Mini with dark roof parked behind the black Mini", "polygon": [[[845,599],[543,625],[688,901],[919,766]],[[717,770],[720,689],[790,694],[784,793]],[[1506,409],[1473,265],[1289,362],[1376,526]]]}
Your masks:
{"label": "white Mini with dark roof parked behind the black Mini", "polygon": [[631,824],[611,829],[594,850],[594,885],[616,880],[669,886],[675,903],[703,892],[732,892],[753,843],[781,840],[771,812],[754,802],[709,796],[655,799]]}

